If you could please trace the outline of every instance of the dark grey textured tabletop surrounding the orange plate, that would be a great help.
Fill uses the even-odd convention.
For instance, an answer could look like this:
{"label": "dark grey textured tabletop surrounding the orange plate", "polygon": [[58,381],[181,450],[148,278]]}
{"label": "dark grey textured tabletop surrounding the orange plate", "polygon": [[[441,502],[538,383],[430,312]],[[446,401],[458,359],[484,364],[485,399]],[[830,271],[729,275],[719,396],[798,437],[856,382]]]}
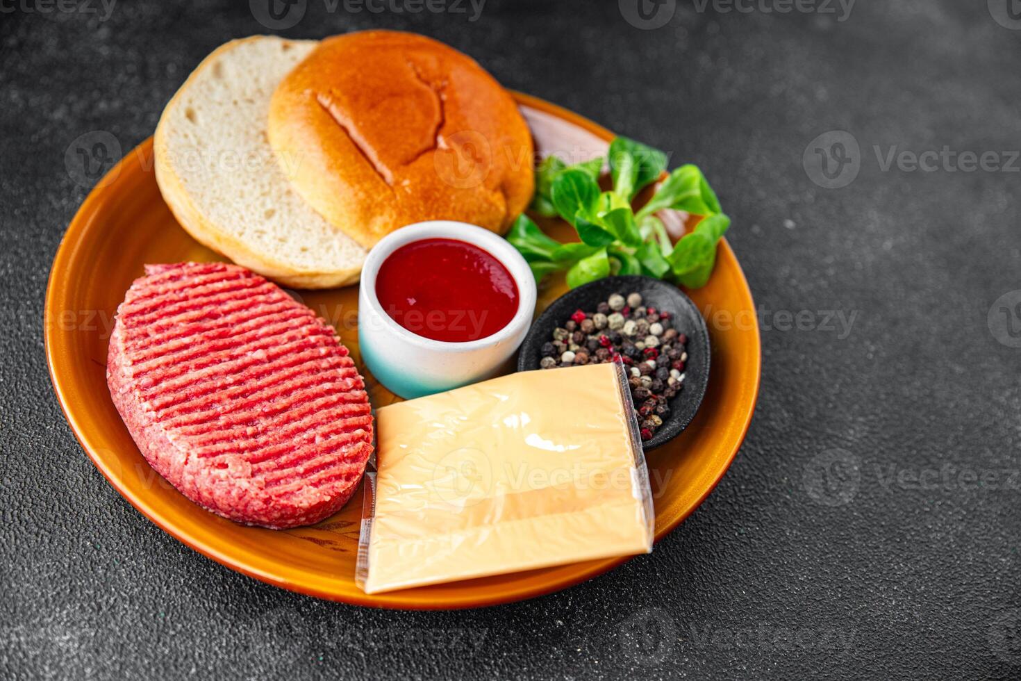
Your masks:
{"label": "dark grey textured tabletop surrounding the orange plate", "polygon": [[131,149],[207,52],[270,29],[244,1],[0,0],[0,677],[1019,678],[1016,5],[279,5],[305,10],[282,35],[435,36],[698,163],[760,306],[747,440],[652,554],[528,602],[393,613],[164,534],[47,378],[46,277],[89,184],[66,150]]}

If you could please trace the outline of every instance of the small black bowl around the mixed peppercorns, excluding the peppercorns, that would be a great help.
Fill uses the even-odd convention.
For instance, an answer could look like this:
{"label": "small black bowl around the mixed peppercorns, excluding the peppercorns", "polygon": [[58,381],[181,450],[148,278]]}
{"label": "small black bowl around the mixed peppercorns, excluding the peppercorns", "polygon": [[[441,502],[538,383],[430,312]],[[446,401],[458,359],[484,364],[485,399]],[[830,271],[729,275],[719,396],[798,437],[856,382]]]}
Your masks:
{"label": "small black bowl around the mixed peppercorns, excluding the peppercorns", "polygon": [[[710,345],[709,331],[701,312],[673,284],[650,277],[606,277],[579,286],[554,300],[529,330],[518,354],[518,371],[539,369],[542,358],[542,344],[552,339],[553,329],[571,319],[571,314],[582,309],[595,310],[595,306],[614,293],[627,296],[637,291],[641,294],[642,305],[655,307],[673,315],[673,327],[688,337],[688,360],[684,366],[684,388],[674,395],[668,404],[670,412],[651,439],[646,440],[643,449],[654,449],[681,434],[694,419],[706,388],[709,385]],[[555,372],[555,369],[546,371]]]}

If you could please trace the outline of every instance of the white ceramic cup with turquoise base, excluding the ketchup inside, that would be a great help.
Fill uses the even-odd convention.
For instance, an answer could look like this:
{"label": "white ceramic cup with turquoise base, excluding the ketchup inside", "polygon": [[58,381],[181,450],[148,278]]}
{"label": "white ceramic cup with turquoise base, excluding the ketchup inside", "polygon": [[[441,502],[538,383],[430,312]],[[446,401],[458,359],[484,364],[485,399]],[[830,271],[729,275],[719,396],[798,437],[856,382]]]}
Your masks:
{"label": "white ceramic cup with turquoise base, excluding the ketchup inside", "polygon": [[[423,239],[457,239],[488,251],[518,285],[518,310],[496,333],[464,343],[425,338],[394,322],[376,297],[376,276],[397,248]],[[390,392],[422,397],[492,377],[525,339],[535,312],[535,278],[525,258],[497,234],[467,223],[432,221],[390,233],[369,252],[358,288],[361,359]]]}

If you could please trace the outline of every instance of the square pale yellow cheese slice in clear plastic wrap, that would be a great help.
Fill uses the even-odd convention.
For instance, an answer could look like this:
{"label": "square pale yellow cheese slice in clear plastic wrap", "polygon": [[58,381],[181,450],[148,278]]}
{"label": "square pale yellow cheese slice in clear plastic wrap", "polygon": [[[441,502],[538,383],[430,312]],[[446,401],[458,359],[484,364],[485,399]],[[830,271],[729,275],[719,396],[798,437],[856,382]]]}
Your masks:
{"label": "square pale yellow cheese slice in clear plastic wrap", "polygon": [[358,551],[368,593],[652,549],[619,364],[523,372],[385,406],[377,434]]}

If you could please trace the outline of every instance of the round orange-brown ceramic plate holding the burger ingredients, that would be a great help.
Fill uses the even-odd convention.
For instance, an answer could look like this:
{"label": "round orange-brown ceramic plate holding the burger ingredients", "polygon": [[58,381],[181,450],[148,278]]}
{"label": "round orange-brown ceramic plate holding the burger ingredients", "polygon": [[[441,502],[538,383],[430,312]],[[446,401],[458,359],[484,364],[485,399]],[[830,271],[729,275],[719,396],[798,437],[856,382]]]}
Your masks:
{"label": "round orange-brown ceramic plate holding the burger ingredients", "polygon": [[[569,158],[586,138],[612,135],[570,111],[517,95],[538,146]],[[540,139],[542,138],[542,139]],[[195,550],[245,575],[321,598],[379,607],[453,609],[489,605],[563,589],[626,558],[591,561],[367,595],[354,583],[361,495],[313,527],[287,531],[243,527],[177,492],[149,468],[106,388],[106,344],[113,313],[146,262],[221,259],[181,229],[152,172],[152,140],[129,153],[89,195],[57,251],[46,293],[46,354],[67,421],[110,484],[153,523]],[[566,240],[567,226],[551,226]],[[540,307],[565,290],[563,278],[540,292]],[[662,538],[713,490],[737,452],[759,391],[759,328],[747,283],[730,247],[720,246],[713,279],[690,292],[726,324],[710,324],[712,376],[701,410],[677,439],[650,452],[655,536]],[[337,327],[359,362],[357,289],[302,291],[304,302]],[[396,399],[367,377],[373,404]]]}

